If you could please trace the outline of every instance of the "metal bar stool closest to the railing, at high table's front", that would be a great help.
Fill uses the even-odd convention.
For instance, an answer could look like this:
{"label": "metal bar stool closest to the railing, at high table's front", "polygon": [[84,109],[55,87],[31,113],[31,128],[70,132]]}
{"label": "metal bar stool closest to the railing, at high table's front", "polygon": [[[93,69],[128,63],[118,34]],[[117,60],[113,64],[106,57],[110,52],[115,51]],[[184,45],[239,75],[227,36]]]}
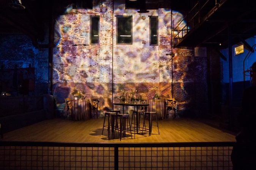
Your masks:
{"label": "metal bar stool closest to the railing, at high table's front", "polygon": [[[118,117],[119,117],[119,128],[120,128],[120,141],[122,138],[122,133],[123,136],[125,136],[126,131],[130,131],[131,138],[132,138],[132,130],[131,130],[131,125],[130,125],[130,116],[129,114],[116,114],[116,128],[118,128]],[[129,123],[129,126],[128,126]],[[115,133],[116,133],[116,128],[115,128]]]}

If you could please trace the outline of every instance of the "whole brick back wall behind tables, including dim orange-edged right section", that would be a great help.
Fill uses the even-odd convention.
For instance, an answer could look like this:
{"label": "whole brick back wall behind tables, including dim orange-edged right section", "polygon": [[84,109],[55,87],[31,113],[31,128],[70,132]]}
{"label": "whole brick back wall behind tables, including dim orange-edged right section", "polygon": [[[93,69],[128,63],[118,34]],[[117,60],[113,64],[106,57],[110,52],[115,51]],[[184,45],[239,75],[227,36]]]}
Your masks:
{"label": "whole brick back wall behind tables, including dim orange-edged right section", "polygon": [[[152,98],[155,92],[160,97],[171,97],[173,79],[178,111],[204,114],[207,111],[206,50],[171,51],[171,11],[149,10],[143,14],[125,9],[124,2],[115,1],[113,6],[112,0],[95,1],[93,9],[69,7],[56,19],[55,42],[58,44],[53,55],[53,95],[57,107],[64,107],[64,98],[72,97],[75,90],[87,99],[99,98],[100,108],[111,108],[112,96],[119,101],[121,90],[138,90],[143,98]],[[100,16],[99,45],[90,45],[91,15]],[[116,15],[132,16],[132,45],[116,44]],[[150,15],[159,19],[158,46],[149,45]],[[142,16],[146,19],[141,19]],[[173,16],[174,23],[182,17],[178,12]],[[175,53],[173,78],[171,57],[166,56],[171,52]]]}

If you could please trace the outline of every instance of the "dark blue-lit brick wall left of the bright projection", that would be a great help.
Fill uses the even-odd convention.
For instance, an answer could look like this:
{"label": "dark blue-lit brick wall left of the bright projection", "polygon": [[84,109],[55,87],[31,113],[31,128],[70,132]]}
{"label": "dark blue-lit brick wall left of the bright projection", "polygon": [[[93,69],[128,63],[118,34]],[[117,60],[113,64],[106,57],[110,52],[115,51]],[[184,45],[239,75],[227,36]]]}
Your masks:
{"label": "dark blue-lit brick wall left of the bright projection", "polygon": [[[48,90],[48,49],[38,49],[24,34],[0,34],[0,63],[3,69],[35,68],[35,91],[33,95]],[[2,89],[4,90],[4,89]],[[13,89],[15,90],[15,89]]]}

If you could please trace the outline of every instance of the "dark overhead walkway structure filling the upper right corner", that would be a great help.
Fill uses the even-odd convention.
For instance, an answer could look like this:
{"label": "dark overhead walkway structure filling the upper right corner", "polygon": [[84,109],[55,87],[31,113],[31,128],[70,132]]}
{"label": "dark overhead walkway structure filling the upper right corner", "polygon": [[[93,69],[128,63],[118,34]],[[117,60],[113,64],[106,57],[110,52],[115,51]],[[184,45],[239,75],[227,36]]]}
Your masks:
{"label": "dark overhead walkway structure filling the upper right corner", "polygon": [[[227,48],[256,36],[256,8],[251,0],[220,0],[210,10],[199,11],[201,18],[175,47],[211,46]],[[205,15],[202,15],[205,14]],[[177,41],[177,40],[176,40]],[[220,45],[221,44],[221,45]]]}

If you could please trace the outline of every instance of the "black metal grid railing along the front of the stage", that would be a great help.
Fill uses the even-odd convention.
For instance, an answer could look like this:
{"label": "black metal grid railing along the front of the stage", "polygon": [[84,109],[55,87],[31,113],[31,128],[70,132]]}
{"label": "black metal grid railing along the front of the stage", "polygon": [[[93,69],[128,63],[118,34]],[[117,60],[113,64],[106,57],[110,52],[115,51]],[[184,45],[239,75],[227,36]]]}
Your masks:
{"label": "black metal grid railing along the front of the stage", "polygon": [[234,142],[0,142],[0,169],[232,169]]}

